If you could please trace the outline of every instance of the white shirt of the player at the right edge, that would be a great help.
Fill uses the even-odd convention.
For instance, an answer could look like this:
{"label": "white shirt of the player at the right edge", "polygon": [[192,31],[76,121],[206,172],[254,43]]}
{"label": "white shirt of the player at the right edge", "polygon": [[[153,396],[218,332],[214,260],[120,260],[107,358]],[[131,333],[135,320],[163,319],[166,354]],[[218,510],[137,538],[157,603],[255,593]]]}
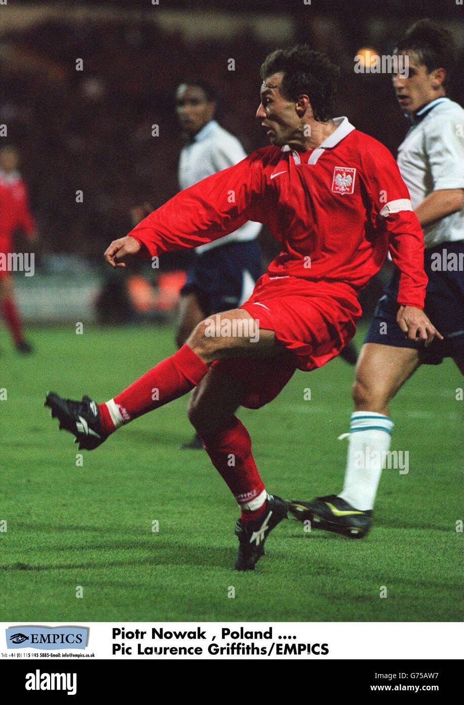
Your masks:
{"label": "white shirt of the player at the right edge", "polygon": [[[398,166],[416,209],[432,193],[464,188],[464,110],[437,98],[416,113],[398,150]],[[425,247],[464,239],[464,208],[423,228]]]}

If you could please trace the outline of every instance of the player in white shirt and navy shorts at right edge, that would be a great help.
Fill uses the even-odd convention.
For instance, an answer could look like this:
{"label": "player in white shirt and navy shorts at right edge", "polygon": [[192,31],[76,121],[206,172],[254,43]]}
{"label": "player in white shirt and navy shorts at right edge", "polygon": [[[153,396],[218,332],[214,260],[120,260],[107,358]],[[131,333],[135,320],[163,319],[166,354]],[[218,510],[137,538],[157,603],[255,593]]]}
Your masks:
{"label": "player in white shirt and navy shorts at right edge", "polygon": [[464,111],[446,97],[453,39],[444,27],[420,20],[401,37],[396,53],[409,61],[407,76],[393,75],[396,99],[410,123],[398,165],[424,231],[425,312],[444,337],[429,347],[406,338],[396,323],[396,270],[360,351],[343,491],[291,504],[294,516],[313,527],[354,538],[370,529],[394,426],[390,400],[421,364],[452,357],[464,374]]}

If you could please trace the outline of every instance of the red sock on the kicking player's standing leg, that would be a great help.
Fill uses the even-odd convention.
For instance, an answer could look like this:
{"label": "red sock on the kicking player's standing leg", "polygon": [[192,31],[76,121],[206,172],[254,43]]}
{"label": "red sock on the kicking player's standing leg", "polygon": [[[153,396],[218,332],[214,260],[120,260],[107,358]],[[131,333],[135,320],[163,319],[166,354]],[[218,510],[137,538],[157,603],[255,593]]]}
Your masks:
{"label": "red sock on the kicking player's standing leg", "polygon": [[[223,429],[199,436],[213,462],[241,507],[244,521],[254,519],[265,507],[265,489],[251,454],[249,432],[237,417]],[[263,494],[264,493],[264,494]],[[256,509],[253,505],[257,505]],[[246,515],[244,517],[244,514]]]}

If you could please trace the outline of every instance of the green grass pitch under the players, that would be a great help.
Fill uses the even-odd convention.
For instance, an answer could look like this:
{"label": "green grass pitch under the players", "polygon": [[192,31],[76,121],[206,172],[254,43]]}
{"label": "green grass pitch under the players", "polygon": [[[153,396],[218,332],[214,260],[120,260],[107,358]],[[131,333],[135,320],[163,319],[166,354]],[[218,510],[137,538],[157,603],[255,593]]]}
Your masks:
{"label": "green grass pitch under the players", "polygon": [[[384,470],[368,537],[305,535],[299,522],[282,522],[268,555],[243,574],[232,570],[232,496],[203,450],[179,450],[192,433],[187,398],[84,452],[82,467],[42,406],[49,389],[113,396],[173,352],[173,330],[85,326],[77,335],[69,326],[32,329],[30,339],[37,353],[24,358],[0,335],[0,620],[462,618],[463,383],[451,361],[420,369],[394,400],[391,448],[408,450],[409,472]],[[346,441],[337,436],[348,429],[352,379],[353,368],[334,360],[298,372],[263,409],[239,412],[268,491],[339,491]]]}

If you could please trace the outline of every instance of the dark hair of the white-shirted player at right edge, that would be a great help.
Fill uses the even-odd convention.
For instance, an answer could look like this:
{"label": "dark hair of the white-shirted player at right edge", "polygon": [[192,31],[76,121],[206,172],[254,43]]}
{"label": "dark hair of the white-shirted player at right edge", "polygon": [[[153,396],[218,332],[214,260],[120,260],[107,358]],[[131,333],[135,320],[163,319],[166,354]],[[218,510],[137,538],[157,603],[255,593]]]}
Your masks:
{"label": "dark hair of the white-shirted player at right edge", "polygon": [[432,20],[419,20],[408,27],[396,44],[395,51],[402,54],[414,51],[420,63],[425,64],[427,73],[435,68],[444,68],[448,82],[454,68],[455,47],[449,30]]}

